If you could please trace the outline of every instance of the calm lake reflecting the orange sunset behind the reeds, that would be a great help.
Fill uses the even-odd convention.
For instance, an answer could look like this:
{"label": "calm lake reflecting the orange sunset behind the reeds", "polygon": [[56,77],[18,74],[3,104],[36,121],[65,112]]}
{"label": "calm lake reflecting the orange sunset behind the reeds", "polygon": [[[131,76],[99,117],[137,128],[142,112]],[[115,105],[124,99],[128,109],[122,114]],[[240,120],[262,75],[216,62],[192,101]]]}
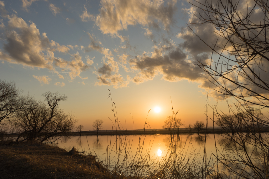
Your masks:
{"label": "calm lake reflecting the orange sunset behind the reeds", "polygon": [[[97,155],[98,161],[102,161],[109,170],[133,176],[137,174],[150,176],[153,171],[156,173],[158,170],[162,176],[166,177],[168,174],[179,174],[179,171],[201,174],[205,170],[211,172],[212,175],[215,171],[219,171],[227,178],[234,178],[238,173],[251,176],[253,171],[244,162],[239,163],[239,169],[237,168],[234,173],[227,170],[227,167],[238,165],[229,161],[239,160],[240,157],[246,159],[244,152],[254,153],[251,155],[252,163],[259,165],[261,160],[257,155],[259,151],[251,145],[246,147],[247,151],[241,150],[240,145],[231,143],[227,135],[89,135],[72,136],[69,139],[61,138],[61,141],[53,145],[67,151],[74,146],[80,152]],[[206,153],[204,155],[205,140]],[[223,158],[225,158],[225,164],[221,163]],[[190,171],[190,169],[195,171]]]}

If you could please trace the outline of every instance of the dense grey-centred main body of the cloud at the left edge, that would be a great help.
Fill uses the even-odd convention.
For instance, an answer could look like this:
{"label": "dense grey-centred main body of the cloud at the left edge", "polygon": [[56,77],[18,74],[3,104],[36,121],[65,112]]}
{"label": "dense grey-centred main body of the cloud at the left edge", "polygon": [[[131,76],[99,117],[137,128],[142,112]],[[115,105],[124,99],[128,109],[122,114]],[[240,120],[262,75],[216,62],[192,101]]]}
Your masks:
{"label": "dense grey-centred main body of the cloud at the left edge", "polygon": [[[22,18],[12,15],[8,17],[8,28],[0,51],[0,59],[10,63],[52,69],[52,64],[45,57],[44,50],[49,48],[49,40],[45,33],[40,36],[36,24],[28,25]],[[17,30],[17,31],[16,31]]]}

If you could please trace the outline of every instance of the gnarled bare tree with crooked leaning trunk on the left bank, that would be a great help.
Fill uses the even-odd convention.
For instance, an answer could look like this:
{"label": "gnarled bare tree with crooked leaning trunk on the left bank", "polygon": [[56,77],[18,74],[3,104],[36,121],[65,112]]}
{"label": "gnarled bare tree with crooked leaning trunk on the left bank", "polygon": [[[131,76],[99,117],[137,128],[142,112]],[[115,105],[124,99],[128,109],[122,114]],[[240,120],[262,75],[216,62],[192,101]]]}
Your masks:
{"label": "gnarled bare tree with crooked leaning trunk on the left bank", "polygon": [[58,106],[60,101],[67,100],[65,95],[46,92],[42,96],[47,104],[32,98],[26,107],[10,120],[19,133],[16,142],[55,141],[59,135],[68,135],[75,126],[77,120],[74,116],[63,113]]}

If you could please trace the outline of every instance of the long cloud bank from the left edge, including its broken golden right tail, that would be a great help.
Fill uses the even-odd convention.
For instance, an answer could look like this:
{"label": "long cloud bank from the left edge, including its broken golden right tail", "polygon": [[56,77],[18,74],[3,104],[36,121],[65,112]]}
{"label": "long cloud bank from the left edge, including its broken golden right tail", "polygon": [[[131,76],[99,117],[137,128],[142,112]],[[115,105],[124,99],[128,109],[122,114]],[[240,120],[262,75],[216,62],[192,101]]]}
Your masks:
{"label": "long cloud bank from the left edge, including its broken golden right tail", "polygon": [[[73,48],[72,45],[65,46],[53,40],[50,41],[46,33],[40,34],[36,24],[33,22],[28,24],[16,15],[7,15],[7,20],[3,33],[5,41],[3,48],[0,49],[0,60],[28,67],[47,68],[63,79],[63,76],[55,69],[59,67],[68,72],[70,81],[76,77],[83,78],[80,74],[88,69],[88,66],[83,63],[78,52],[69,53],[70,48]],[[55,57],[54,51],[70,55],[70,60]]]}

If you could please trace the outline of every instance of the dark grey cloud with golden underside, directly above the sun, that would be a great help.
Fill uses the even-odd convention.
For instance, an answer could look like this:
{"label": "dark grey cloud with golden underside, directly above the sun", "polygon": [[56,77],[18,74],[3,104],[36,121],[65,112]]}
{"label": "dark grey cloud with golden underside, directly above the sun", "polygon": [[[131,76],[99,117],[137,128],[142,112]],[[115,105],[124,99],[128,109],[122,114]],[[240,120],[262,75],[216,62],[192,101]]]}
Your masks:
{"label": "dark grey cloud with golden underside, directly above the sun", "polygon": [[152,80],[158,74],[172,82],[182,79],[196,81],[203,77],[200,67],[172,42],[153,46],[153,49],[153,52],[144,52],[129,60],[131,68],[139,71],[133,78],[135,83]]}

